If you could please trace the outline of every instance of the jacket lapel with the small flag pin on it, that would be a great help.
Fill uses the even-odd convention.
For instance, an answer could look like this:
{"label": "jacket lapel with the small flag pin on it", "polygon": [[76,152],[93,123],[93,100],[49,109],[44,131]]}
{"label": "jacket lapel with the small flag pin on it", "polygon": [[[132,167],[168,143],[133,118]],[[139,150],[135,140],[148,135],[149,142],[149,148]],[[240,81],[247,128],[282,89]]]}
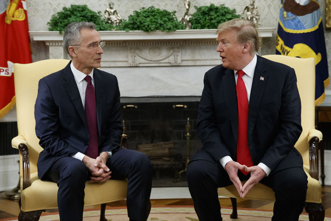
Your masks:
{"label": "jacket lapel with the small flag pin on it", "polygon": [[258,56],[256,63],[253,84],[251,89],[250,103],[249,103],[249,119],[248,119],[248,137],[252,137],[253,128],[258,115],[264,87],[267,81],[268,75],[263,65],[263,60]]}

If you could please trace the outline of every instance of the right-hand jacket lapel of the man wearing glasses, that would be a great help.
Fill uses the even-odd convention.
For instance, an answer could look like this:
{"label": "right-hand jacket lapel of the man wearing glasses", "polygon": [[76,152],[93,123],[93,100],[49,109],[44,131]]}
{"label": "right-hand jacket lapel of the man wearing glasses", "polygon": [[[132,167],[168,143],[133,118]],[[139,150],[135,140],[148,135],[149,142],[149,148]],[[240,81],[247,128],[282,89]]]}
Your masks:
{"label": "right-hand jacket lapel of the man wearing glasses", "polygon": [[95,97],[96,97],[96,105],[97,105],[97,125],[100,134],[101,123],[102,123],[103,95],[104,95],[103,91],[106,90],[106,87],[100,77],[98,69],[94,69],[93,77],[94,77]]}

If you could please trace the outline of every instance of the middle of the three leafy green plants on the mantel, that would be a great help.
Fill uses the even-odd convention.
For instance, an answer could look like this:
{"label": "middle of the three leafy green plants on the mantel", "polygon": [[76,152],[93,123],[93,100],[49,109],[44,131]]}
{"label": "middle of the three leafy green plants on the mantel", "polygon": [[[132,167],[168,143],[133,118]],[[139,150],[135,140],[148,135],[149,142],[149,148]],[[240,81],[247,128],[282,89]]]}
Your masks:
{"label": "middle of the three leafy green plants on the mantel", "polygon": [[178,29],[185,29],[185,25],[177,20],[176,11],[170,12],[160,10],[153,6],[141,8],[129,15],[128,20],[123,20],[116,27],[117,30],[142,30],[145,32],[164,31],[172,32]]}

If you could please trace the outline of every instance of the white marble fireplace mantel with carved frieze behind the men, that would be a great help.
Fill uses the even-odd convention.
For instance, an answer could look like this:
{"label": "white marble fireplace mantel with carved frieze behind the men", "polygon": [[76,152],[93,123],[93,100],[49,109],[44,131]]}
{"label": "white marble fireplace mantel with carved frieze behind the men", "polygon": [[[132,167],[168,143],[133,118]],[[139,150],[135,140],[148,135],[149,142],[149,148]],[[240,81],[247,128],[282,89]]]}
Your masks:
{"label": "white marble fireplace mantel with carved frieze behind the men", "polygon": [[[203,75],[220,64],[216,30],[100,31],[106,42],[101,69],[119,80],[121,97],[200,96]],[[275,28],[259,28],[262,38]],[[49,59],[69,59],[59,32],[30,31],[49,48]]]}

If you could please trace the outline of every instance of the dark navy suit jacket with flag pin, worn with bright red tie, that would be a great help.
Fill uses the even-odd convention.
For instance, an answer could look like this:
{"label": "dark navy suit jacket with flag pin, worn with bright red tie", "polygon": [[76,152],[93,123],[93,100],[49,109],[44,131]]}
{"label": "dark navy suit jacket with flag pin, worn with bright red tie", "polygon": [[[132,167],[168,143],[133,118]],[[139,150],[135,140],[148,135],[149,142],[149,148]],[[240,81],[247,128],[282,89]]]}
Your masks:
{"label": "dark navy suit jacket with flag pin, worn with bright red tie", "polygon": [[[272,172],[302,167],[294,148],[301,134],[301,102],[294,69],[258,56],[249,102],[248,143],[253,164]],[[238,107],[234,71],[218,65],[204,77],[197,127],[203,147],[191,160],[236,161]]]}

